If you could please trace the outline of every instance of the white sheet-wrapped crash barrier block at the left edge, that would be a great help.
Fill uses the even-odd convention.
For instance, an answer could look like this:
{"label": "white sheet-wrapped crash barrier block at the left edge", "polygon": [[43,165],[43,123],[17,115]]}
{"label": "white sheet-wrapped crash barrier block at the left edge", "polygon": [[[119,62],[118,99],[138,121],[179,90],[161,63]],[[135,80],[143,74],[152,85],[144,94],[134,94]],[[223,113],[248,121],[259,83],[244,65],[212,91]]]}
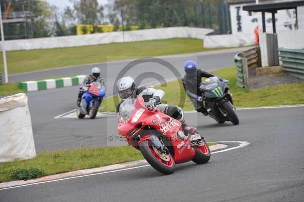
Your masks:
{"label": "white sheet-wrapped crash barrier block at the left edge", "polygon": [[27,96],[0,99],[0,162],[36,156]]}

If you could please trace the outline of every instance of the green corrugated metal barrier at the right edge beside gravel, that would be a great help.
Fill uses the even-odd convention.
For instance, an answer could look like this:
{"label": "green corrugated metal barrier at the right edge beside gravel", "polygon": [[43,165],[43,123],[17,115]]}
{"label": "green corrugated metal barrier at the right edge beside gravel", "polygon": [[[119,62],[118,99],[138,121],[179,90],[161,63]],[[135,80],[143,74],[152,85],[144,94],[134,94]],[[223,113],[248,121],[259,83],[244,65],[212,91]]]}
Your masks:
{"label": "green corrugated metal barrier at the right edge beside gravel", "polygon": [[283,70],[294,76],[304,78],[304,50],[278,49],[278,51]]}

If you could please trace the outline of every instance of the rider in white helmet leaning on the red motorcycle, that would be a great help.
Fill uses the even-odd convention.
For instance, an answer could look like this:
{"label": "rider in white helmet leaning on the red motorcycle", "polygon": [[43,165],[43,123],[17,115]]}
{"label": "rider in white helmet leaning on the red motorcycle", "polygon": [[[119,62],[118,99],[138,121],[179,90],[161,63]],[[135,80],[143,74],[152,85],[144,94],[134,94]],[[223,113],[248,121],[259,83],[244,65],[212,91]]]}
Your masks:
{"label": "rider in white helmet leaning on the red motorcycle", "polygon": [[[196,133],[196,128],[186,124],[183,111],[180,107],[161,104],[165,96],[164,91],[145,86],[137,88],[134,79],[130,76],[119,79],[116,87],[122,102],[130,98],[136,98],[137,95],[141,94],[146,105],[149,105],[151,108],[157,107],[163,113],[177,119],[181,123],[182,130],[185,134],[194,135]],[[116,107],[117,112],[119,112],[120,104]]]}

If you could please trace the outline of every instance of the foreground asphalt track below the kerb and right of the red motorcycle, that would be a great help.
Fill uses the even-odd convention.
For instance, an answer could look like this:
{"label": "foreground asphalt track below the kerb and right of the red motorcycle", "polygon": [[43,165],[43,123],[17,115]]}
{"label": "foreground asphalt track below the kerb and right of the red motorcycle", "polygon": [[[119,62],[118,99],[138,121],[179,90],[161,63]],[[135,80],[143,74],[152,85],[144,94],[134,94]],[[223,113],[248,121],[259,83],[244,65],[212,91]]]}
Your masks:
{"label": "foreground asphalt track below the kerb and right of the red motorcycle", "polygon": [[177,165],[169,176],[148,166],[0,190],[0,201],[303,201],[304,107],[237,113],[239,126],[187,114],[207,141],[250,142],[212,154],[205,165]]}

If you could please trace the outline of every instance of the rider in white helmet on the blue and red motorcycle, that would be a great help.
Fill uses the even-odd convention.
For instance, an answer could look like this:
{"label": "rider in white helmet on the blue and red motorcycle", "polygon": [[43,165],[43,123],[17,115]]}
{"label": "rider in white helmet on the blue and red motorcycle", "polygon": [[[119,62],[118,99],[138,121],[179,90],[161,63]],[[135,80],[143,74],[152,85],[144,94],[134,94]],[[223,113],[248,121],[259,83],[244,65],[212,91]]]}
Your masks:
{"label": "rider in white helmet on the blue and red motorcycle", "polygon": [[102,86],[104,86],[104,78],[100,76],[100,69],[98,67],[94,67],[91,71],[91,74],[86,75],[84,81],[82,83],[83,91],[80,91],[78,94],[77,105],[80,105],[81,97],[84,94],[84,91],[88,89],[92,82],[99,82]]}

